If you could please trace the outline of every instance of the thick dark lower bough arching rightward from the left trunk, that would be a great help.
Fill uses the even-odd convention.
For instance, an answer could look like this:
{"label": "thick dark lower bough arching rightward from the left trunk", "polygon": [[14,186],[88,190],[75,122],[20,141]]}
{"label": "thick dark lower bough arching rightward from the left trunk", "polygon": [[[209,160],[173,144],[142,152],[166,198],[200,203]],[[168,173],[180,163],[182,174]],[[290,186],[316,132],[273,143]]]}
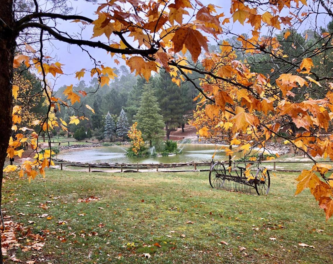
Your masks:
{"label": "thick dark lower bough arching rightward from the left trunk", "polygon": [[155,48],[150,48],[150,49],[146,49],[146,50],[140,50],[140,49],[119,49],[119,48],[114,48],[114,47],[110,47],[109,45],[106,45],[100,41],[96,42],[96,41],[90,41],[90,40],[82,40],[82,39],[74,39],[74,38],[68,38],[65,37],[59,33],[57,33],[56,31],[54,31],[52,28],[44,25],[44,24],[40,24],[40,23],[36,23],[36,22],[30,22],[30,23],[25,23],[23,25],[18,26],[16,29],[18,32],[22,31],[23,29],[26,28],[40,28],[43,29],[45,31],[47,31],[49,34],[51,34],[53,37],[55,37],[56,39],[69,43],[69,44],[76,44],[78,46],[89,46],[92,48],[100,48],[100,49],[104,49],[106,51],[112,52],[112,53],[119,53],[119,54],[139,54],[142,56],[147,56],[147,55],[152,55],[155,54],[158,50]]}

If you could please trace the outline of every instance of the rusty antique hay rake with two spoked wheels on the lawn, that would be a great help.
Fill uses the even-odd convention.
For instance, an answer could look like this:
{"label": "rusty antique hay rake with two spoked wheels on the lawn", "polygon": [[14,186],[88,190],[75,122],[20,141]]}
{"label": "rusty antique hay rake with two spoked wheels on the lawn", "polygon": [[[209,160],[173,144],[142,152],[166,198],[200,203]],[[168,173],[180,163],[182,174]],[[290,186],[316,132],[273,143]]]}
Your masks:
{"label": "rusty antique hay rake with two spoked wheels on the lawn", "polygon": [[209,171],[209,183],[212,188],[226,191],[242,192],[254,194],[254,190],[258,195],[265,195],[269,192],[270,177],[266,168],[259,168],[255,175],[252,173],[253,179],[245,176],[246,169],[237,166],[238,170],[225,169],[221,162],[212,160]]}

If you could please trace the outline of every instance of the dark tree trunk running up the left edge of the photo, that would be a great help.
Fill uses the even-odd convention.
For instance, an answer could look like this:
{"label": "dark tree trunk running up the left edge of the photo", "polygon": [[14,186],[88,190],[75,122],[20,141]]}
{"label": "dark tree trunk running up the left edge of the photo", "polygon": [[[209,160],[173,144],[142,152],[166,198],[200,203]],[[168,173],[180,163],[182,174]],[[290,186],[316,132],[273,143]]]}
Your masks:
{"label": "dark tree trunk running up the left edge of the photo", "polygon": [[[12,127],[12,80],[13,61],[15,51],[15,33],[13,1],[5,0],[0,5],[0,206],[3,167],[7,156],[10,130]],[[0,248],[0,263],[3,263],[2,250]]]}

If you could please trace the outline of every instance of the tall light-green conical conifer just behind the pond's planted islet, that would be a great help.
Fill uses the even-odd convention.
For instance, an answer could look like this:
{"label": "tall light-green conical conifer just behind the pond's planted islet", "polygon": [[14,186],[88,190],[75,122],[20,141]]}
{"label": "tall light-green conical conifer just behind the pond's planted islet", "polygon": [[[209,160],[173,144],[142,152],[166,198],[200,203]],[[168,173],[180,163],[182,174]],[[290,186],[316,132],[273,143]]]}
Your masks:
{"label": "tall light-green conical conifer just behind the pond's planted islet", "polygon": [[143,137],[149,140],[150,146],[152,146],[152,140],[163,133],[164,122],[160,111],[155,89],[151,84],[145,84],[138,114],[134,118],[138,122],[138,129],[142,131]]}

